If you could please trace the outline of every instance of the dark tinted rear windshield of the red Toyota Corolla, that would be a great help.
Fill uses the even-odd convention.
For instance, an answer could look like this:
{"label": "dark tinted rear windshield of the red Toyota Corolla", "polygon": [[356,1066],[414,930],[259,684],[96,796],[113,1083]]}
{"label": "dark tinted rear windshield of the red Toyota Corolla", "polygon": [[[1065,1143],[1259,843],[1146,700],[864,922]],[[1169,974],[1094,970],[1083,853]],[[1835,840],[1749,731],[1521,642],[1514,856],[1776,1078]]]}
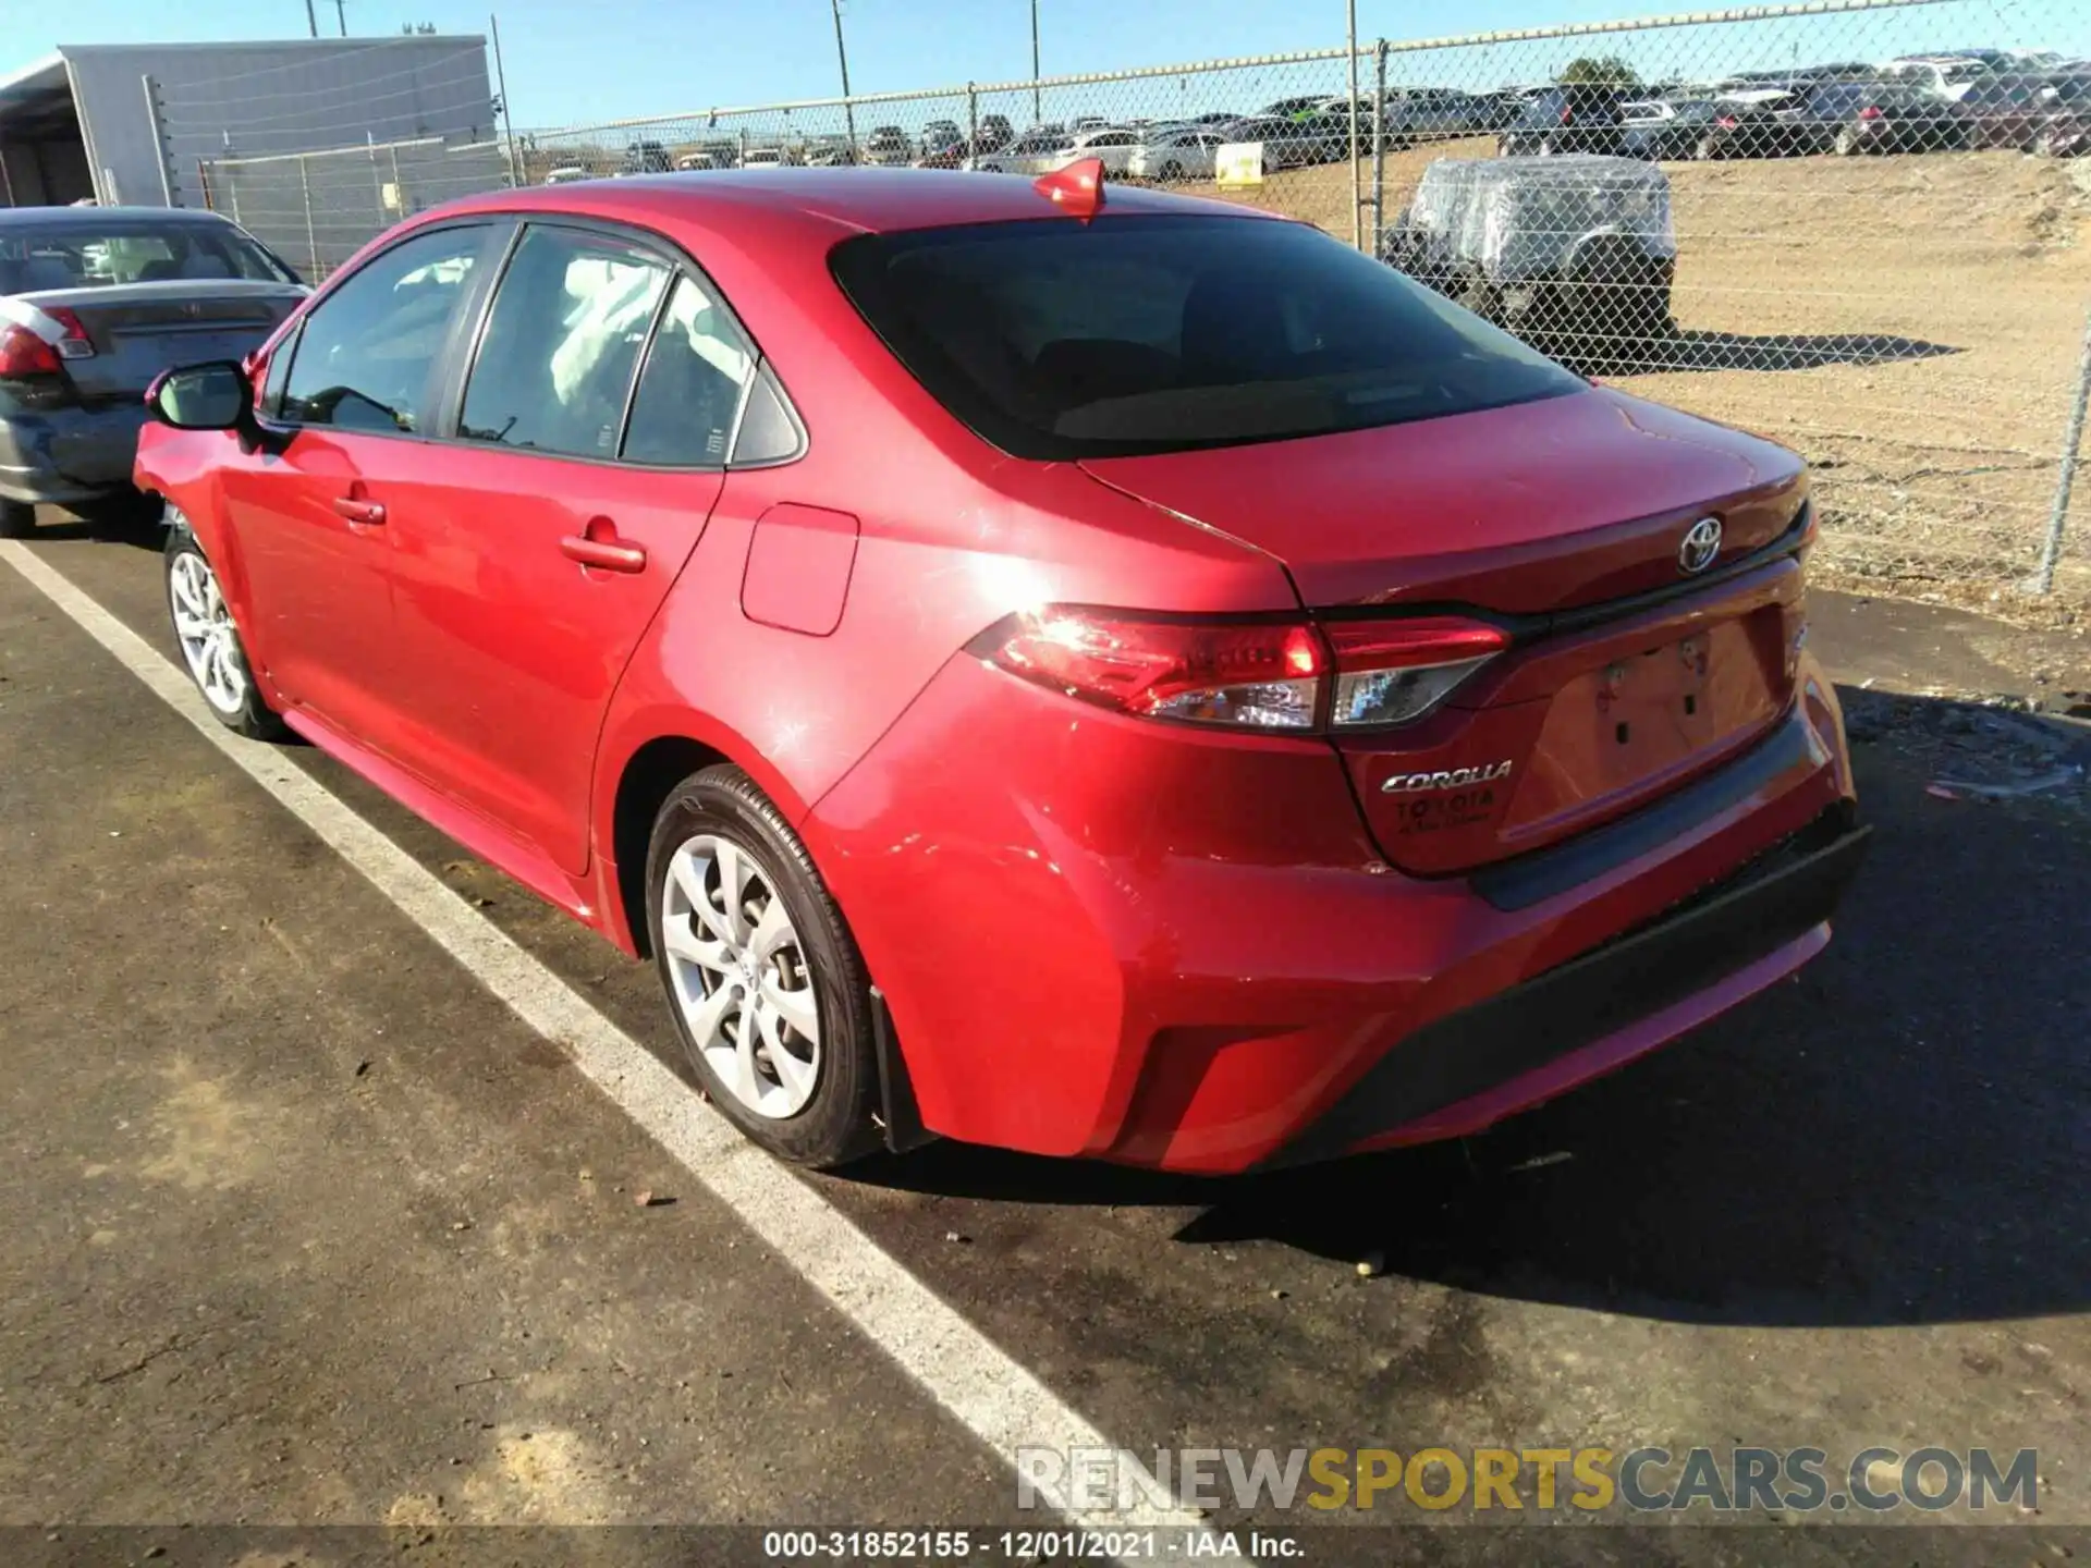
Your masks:
{"label": "dark tinted rear windshield of the red Toyota Corolla", "polygon": [[972,224],[864,234],[832,268],[916,381],[1018,458],[1282,441],[1585,387],[1305,224]]}

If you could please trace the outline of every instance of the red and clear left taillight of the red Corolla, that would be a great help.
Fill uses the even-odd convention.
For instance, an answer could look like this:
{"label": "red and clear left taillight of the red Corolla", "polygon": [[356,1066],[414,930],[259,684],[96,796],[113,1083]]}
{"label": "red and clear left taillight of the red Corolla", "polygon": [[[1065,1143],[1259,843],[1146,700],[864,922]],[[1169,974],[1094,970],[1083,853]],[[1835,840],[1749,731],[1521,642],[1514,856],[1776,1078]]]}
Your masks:
{"label": "red and clear left taillight of the red Corolla", "polygon": [[1506,646],[1497,627],[1449,615],[1311,627],[1056,604],[989,627],[970,652],[1121,713],[1309,732],[1411,723]]}

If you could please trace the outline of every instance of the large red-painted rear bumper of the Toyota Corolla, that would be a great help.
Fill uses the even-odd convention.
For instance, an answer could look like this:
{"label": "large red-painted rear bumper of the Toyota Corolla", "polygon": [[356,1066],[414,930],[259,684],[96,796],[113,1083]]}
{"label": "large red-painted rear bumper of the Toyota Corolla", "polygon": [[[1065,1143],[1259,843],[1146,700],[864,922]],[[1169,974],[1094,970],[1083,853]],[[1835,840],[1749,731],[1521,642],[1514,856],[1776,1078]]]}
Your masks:
{"label": "large red-painted rear bumper of the Toyota Corolla", "polygon": [[[1554,851],[1418,878],[1372,845],[1326,746],[1073,713],[960,659],[799,826],[924,1127],[1232,1173],[1487,1125],[1811,958],[1848,861],[1704,914],[1848,811],[1807,652],[1796,688],[1708,780]],[[1729,941],[1750,920],[1763,937]],[[1541,1014],[1531,1050],[1497,1047],[1491,1018]]]}

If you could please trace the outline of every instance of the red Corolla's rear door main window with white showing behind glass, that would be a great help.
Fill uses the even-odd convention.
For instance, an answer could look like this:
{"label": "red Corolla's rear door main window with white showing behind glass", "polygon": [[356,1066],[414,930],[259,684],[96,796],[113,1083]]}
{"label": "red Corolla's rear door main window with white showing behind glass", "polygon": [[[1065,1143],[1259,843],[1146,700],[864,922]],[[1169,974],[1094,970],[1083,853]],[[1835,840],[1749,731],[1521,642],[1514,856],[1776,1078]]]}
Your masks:
{"label": "red Corolla's rear door main window with white showing behind glass", "polygon": [[569,458],[615,458],[631,374],[669,268],[623,240],[523,232],[464,383],[458,435]]}

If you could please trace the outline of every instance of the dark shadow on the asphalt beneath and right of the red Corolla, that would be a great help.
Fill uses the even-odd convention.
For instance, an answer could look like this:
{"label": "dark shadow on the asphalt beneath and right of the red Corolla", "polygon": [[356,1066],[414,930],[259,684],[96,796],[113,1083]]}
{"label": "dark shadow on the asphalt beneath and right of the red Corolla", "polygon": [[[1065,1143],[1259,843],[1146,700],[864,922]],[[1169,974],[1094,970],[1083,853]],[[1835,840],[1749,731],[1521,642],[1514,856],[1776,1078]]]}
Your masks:
{"label": "dark shadow on the asphalt beneath and right of the red Corolla", "polygon": [[1480,1137],[1269,1175],[956,1144],[853,1175],[1186,1208],[1181,1244],[1276,1242],[1347,1269],[1376,1259],[1397,1277],[1675,1321],[2083,1311],[2091,799],[1943,801],[1932,771],[1970,759],[1926,751],[1928,725],[1955,734],[1959,705],[1894,702],[1894,717],[1853,725],[1876,845],[1830,951],[1614,1077]]}

